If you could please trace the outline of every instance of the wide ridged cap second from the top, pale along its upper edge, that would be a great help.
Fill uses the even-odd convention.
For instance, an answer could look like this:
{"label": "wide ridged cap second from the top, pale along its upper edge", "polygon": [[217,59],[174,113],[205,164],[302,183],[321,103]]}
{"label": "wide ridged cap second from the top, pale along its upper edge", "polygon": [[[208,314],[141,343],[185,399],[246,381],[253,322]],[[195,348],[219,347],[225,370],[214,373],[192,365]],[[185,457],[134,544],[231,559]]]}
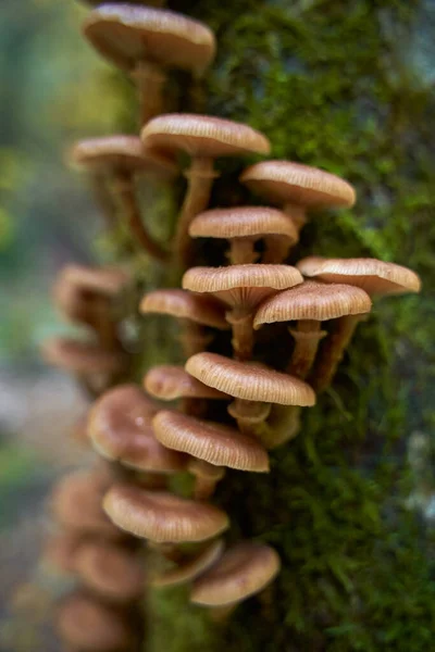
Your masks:
{"label": "wide ridged cap second from the top, pale along its upper edge", "polygon": [[268,138],[248,125],[189,113],[159,115],[145,125],[140,137],[147,150],[165,154],[182,150],[194,158],[268,154],[271,148]]}

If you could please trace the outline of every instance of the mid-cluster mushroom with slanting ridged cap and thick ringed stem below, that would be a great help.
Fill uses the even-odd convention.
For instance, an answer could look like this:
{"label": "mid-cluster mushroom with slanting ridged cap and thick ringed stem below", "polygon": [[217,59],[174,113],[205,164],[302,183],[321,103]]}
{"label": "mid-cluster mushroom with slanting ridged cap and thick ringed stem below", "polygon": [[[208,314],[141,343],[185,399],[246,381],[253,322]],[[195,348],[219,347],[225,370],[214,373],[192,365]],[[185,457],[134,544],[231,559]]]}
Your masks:
{"label": "mid-cluster mushroom with slanting ridged cap and thick ringed stem below", "polygon": [[282,437],[265,423],[271,403],[300,406],[315,403],[309,385],[257,363],[238,362],[216,353],[197,353],[187,361],[186,369],[204,385],[234,397],[229,414],[243,432],[258,437],[266,448],[277,446]]}

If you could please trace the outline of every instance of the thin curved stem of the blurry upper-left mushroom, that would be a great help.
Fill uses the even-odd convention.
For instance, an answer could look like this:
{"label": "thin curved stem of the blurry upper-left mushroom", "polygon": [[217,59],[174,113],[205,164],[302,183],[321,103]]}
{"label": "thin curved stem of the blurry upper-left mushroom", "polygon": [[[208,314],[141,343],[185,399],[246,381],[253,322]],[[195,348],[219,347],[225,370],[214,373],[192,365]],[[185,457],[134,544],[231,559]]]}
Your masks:
{"label": "thin curved stem of the blurry upper-left mushroom", "polygon": [[115,191],[122,213],[128,222],[132,236],[149,255],[162,262],[166,261],[169,258],[167,252],[156,242],[144,226],[133,178],[129,175],[117,174],[115,178]]}

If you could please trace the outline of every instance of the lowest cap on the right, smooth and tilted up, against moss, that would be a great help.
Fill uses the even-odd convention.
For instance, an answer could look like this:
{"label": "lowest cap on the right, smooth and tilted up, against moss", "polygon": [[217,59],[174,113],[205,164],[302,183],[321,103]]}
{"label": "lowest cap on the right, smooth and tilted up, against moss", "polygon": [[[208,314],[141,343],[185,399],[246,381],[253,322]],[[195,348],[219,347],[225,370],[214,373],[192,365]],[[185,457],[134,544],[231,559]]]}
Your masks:
{"label": "lowest cap on the right, smooth and tilted up, against moss", "polygon": [[281,561],[273,548],[238,543],[195,581],[190,601],[207,606],[236,604],[266,587],[279,567]]}

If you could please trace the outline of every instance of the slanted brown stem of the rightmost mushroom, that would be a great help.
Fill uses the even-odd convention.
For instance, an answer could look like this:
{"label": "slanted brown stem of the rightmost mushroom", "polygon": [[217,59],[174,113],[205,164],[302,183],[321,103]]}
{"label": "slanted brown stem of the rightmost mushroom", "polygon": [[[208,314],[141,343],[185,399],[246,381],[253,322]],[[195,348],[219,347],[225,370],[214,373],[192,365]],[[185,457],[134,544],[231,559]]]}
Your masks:
{"label": "slanted brown stem of the rightmost mushroom", "polygon": [[364,315],[347,315],[337,319],[337,326],[327,338],[311,373],[311,385],[316,392],[324,391],[331,385],[355,329],[362,318]]}

